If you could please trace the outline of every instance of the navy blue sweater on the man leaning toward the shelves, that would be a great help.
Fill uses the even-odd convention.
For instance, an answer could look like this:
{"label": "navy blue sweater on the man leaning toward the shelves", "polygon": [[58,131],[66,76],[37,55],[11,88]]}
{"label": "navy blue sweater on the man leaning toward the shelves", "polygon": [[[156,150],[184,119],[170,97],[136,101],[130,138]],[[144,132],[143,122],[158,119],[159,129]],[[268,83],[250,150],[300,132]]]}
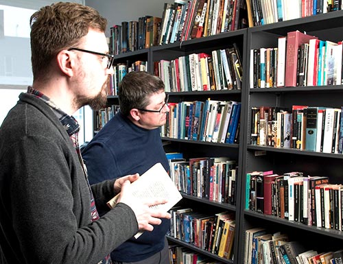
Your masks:
{"label": "navy blue sweater on the man leaning toward the shelves", "polygon": [[[141,175],[156,163],[162,163],[169,171],[159,129],[139,128],[120,112],[88,143],[82,156],[91,184],[128,174]],[[112,259],[123,262],[147,259],[163,249],[168,229],[169,220],[163,219],[152,232],[143,232],[139,239],[131,238],[119,245],[112,252]]]}

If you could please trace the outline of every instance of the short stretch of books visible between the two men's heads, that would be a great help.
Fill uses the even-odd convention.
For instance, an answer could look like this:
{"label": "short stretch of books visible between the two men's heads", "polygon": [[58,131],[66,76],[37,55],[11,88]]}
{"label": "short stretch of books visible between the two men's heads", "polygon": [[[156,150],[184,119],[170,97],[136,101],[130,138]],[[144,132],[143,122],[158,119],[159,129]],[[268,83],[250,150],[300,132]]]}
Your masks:
{"label": "short stretch of books visible between the two men's heads", "polygon": [[131,71],[147,71],[147,61],[137,60],[135,62],[130,62],[128,60],[125,63],[118,63],[113,65],[114,73],[110,77],[110,85],[108,86],[108,95],[118,95],[118,85],[126,73]]}

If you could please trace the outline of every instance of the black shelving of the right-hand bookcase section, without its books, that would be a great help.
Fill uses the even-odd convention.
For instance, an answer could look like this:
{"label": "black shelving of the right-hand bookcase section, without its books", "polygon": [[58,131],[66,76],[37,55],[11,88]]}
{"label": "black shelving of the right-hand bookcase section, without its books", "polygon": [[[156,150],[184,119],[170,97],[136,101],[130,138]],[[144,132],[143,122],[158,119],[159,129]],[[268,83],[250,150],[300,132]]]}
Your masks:
{"label": "black shelving of the right-hand bookcase section, without its books", "polygon": [[[278,47],[279,36],[287,36],[287,32],[299,30],[309,35],[317,36],[321,40],[340,41],[340,32],[343,26],[343,12],[330,12],[316,16],[308,16],[303,19],[294,19],[279,23],[250,27],[248,29],[247,59],[250,61],[250,49],[261,47]],[[248,65],[246,65],[248,72]],[[246,82],[246,137],[244,139],[241,186],[246,186],[246,173],[250,171],[268,171],[282,175],[289,171],[302,171],[304,176],[328,176],[330,183],[342,183],[342,154],[329,154],[312,152],[300,149],[268,147],[252,145],[251,121],[252,107],[281,106],[292,109],[294,105],[325,106],[340,108],[342,102],[342,85],[331,86],[296,86],[296,87],[272,87],[250,88]],[[246,189],[241,191],[241,202],[246,201]],[[273,215],[265,215],[246,209],[241,205],[239,226],[239,248],[244,248],[245,230],[255,227],[263,227],[270,232],[281,231],[287,233],[289,241],[300,241],[306,245],[307,250],[329,252],[340,250],[343,241],[343,233],[339,230],[307,226],[300,221],[289,221]],[[320,241],[320,243],[318,243]],[[244,263],[244,250],[239,252],[239,259]]]}

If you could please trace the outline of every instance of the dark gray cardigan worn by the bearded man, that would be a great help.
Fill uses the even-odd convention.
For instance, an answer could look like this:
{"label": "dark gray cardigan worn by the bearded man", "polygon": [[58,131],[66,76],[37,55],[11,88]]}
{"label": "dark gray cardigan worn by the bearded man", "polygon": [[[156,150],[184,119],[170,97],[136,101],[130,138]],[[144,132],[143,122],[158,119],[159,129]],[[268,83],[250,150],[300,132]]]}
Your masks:
{"label": "dark gray cardigan worn by the bearded man", "polygon": [[[54,112],[22,93],[0,128],[0,245],[9,263],[97,263],[137,232],[118,204],[91,222],[90,191],[73,144]],[[92,187],[97,206],[113,180]]]}

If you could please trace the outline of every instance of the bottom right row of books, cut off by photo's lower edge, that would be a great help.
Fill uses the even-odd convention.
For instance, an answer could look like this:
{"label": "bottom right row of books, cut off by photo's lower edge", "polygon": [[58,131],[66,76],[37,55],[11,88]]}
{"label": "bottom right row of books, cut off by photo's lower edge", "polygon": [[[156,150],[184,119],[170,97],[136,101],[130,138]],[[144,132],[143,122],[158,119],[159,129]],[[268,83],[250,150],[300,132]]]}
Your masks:
{"label": "bottom right row of books, cut off by photo's lower edge", "polygon": [[342,260],[343,250],[318,252],[300,241],[289,241],[281,232],[270,233],[261,227],[246,230],[244,264],[338,264]]}

